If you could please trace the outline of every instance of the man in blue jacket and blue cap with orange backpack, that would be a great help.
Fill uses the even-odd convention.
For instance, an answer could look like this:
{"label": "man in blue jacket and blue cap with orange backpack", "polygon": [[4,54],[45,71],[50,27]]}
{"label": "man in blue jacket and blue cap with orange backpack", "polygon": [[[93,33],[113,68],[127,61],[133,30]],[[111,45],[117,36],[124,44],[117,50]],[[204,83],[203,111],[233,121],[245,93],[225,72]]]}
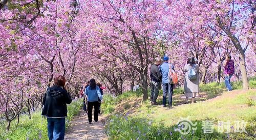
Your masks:
{"label": "man in blue jacket and blue cap with orange backpack", "polygon": [[167,94],[168,94],[168,104],[169,107],[173,105],[173,91],[174,91],[174,84],[170,83],[168,79],[169,70],[174,70],[174,66],[168,63],[169,57],[164,55],[163,57],[163,64],[160,66],[160,72],[162,74],[162,86],[163,86],[163,107],[166,106]]}

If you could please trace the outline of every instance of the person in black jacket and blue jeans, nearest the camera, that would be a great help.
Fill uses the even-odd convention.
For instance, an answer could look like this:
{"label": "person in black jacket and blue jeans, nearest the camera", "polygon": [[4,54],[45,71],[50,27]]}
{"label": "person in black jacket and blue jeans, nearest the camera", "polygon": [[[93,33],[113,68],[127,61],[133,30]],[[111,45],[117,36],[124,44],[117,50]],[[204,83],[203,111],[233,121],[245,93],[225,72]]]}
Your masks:
{"label": "person in black jacket and blue jeans, nearest the camera", "polygon": [[48,137],[52,139],[64,139],[65,118],[67,117],[67,104],[72,102],[70,94],[65,86],[64,76],[57,76],[54,85],[48,88],[42,100],[44,108],[42,116],[47,117]]}

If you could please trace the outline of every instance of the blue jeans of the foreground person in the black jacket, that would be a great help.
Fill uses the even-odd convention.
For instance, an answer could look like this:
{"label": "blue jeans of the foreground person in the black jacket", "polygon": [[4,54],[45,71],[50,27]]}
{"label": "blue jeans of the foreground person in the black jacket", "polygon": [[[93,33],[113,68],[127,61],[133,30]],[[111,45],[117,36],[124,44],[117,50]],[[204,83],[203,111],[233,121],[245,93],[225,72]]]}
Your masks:
{"label": "blue jeans of the foreground person in the black jacket", "polygon": [[63,140],[65,137],[65,118],[47,118],[50,140]]}

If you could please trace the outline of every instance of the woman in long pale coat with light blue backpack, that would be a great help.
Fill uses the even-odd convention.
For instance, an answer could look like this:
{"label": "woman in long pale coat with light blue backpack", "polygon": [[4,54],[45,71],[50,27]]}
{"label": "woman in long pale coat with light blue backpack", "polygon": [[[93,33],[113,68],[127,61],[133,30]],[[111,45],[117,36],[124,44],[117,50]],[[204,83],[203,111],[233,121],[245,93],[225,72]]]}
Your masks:
{"label": "woman in long pale coat with light blue backpack", "polygon": [[195,102],[195,96],[199,92],[199,65],[196,64],[194,57],[187,59],[187,64],[184,67],[185,81],[184,92],[186,96],[186,103],[188,103],[188,97],[192,97],[191,102]]}

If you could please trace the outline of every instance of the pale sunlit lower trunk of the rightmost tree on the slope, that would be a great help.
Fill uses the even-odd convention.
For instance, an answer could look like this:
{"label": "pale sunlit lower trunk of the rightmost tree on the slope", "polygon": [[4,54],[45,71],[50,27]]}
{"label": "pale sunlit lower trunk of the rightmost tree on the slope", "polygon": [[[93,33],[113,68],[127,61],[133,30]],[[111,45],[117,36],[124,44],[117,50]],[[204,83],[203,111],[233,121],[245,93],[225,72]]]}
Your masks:
{"label": "pale sunlit lower trunk of the rightmost tree on the slope", "polygon": [[243,90],[247,91],[249,90],[249,85],[248,85],[248,77],[247,77],[247,71],[246,71],[246,65],[245,65],[244,52],[240,52],[239,61],[240,61],[240,69],[242,73]]}

